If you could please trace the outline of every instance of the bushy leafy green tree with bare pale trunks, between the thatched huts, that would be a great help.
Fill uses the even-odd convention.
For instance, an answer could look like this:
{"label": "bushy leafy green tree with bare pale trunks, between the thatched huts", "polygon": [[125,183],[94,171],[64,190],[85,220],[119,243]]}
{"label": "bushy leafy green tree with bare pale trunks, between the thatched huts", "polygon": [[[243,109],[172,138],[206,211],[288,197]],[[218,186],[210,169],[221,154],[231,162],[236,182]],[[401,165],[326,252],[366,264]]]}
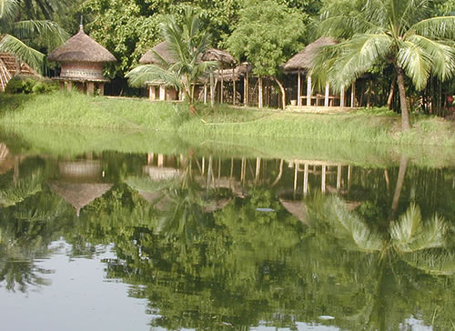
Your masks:
{"label": "bushy leafy green tree with bare pale trunks, between the thatched huts", "polygon": [[275,0],[248,0],[240,10],[238,24],[226,44],[238,59],[251,63],[253,73],[259,76],[259,108],[263,76],[275,79],[284,98],[284,88],[276,76],[279,65],[299,50],[305,19],[305,15]]}

